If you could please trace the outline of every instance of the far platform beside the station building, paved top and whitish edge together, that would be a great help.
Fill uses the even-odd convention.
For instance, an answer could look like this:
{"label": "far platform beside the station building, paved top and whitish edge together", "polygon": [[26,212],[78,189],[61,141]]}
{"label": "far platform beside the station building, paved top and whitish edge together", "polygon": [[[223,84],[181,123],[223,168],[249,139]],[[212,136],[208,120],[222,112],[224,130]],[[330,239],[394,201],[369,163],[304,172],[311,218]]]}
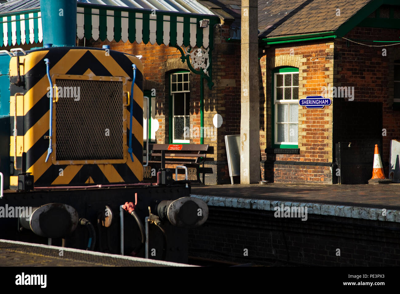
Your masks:
{"label": "far platform beside the station building, paved top and whitish edge together", "polygon": [[[306,206],[309,214],[400,223],[400,184],[192,185],[191,196],[202,199],[208,206],[271,211],[282,204]],[[382,213],[384,209],[386,212]]]}

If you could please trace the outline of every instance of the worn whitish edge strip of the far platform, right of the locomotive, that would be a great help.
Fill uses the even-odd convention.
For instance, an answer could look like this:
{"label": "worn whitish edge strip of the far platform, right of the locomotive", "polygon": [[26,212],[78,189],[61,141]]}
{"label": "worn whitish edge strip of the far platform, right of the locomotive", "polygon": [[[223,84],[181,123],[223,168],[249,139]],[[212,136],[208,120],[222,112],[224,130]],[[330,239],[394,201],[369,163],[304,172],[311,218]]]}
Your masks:
{"label": "worn whitish edge strip of the far platform, right of the locomotive", "polygon": [[208,206],[247,208],[274,211],[276,206],[307,206],[307,213],[329,216],[341,216],[344,218],[362,218],[364,220],[382,220],[386,222],[400,222],[400,210],[386,209],[386,216],[382,216],[382,209],[361,206],[344,206],[333,204],[318,204],[310,202],[285,202],[270,201],[250,198],[231,198],[191,194],[206,202]]}

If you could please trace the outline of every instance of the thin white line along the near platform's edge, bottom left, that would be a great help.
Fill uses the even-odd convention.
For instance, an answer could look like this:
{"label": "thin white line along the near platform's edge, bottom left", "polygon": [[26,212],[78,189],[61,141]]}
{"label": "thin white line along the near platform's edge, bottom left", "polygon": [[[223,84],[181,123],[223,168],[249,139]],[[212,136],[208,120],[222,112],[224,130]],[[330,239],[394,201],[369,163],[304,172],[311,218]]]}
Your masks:
{"label": "thin white line along the near platform's edge, bottom left", "polygon": [[[75,248],[50,246],[50,245],[44,245],[44,244],[19,242],[19,241],[5,240],[5,239],[0,239],[0,242],[10,243],[10,244],[18,244],[18,245],[27,245],[27,246],[32,246],[32,247],[41,247],[41,248],[47,248],[47,249],[55,249],[55,250],[62,249],[65,252],[76,252],[76,253],[83,253],[83,254],[90,254],[90,255],[97,255],[97,256],[107,256],[107,257],[112,257],[112,258],[126,259],[126,260],[138,261],[138,262],[149,262],[149,263],[154,263],[154,264],[161,264],[161,265],[166,265],[166,266],[194,266],[194,265],[190,265],[190,264],[183,264],[183,263],[177,263],[177,262],[146,259],[146,258],[133,257],[133,256],[122,256],[122,255],[118,255],[118,254],[109,254],[109,253],[102,253],[102,252],[96,252],[96,251],[87,251],[87,250],[81,250],[81,249],[75,249]],[[10,250],[14,250],[14,249],[10,248]],[[27,254],[30,254],[30,253],[35,254],[34,252],[26,252],[26,253]],[[85,260],[77,260],[77,261],[85,262]]]}

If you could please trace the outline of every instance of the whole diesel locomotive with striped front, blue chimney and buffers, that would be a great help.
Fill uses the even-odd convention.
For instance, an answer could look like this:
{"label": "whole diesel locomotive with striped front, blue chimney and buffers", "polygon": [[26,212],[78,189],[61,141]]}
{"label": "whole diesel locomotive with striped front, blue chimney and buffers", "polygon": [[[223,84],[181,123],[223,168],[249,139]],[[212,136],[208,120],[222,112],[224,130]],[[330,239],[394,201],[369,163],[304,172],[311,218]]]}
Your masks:
{"label": "whole diesel locomotive with striped front, blue chimney and buffers", "polygon": [[0,238],[186,262],[208,208],[168,169],[142,182],[142,62],[74,46],[76,0],[40,4],[44,48],[0,53]]}

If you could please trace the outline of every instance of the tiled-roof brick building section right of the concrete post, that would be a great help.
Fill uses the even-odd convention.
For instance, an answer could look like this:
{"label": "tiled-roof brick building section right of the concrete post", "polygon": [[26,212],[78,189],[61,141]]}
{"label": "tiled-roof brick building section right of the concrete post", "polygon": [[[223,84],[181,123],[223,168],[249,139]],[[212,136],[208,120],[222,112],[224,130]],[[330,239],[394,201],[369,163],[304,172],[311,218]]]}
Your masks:
{"label": "tiled-roof brick building section right of the concrete post", "polygon": [[[259,2],[262,178],[366,183],[374,144],[388,176],[390,140],[400,136],[400,45],[390,46],[400,40],[399,4]],[[316,95],[332,104],[299,106]]]}

